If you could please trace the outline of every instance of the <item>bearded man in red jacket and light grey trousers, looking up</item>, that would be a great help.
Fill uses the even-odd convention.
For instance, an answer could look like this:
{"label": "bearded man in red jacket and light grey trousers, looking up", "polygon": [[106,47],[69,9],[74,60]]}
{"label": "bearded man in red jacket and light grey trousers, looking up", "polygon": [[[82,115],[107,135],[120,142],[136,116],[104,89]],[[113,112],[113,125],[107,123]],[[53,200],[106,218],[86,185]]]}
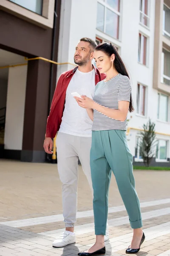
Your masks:
{"label": "bearded man in red jacket and light grey trousers, looking up", "polygon": [[[105,74],[92,65],[96,42],[82,38],[77,44],[74,62],[78,66],[61,74],[48,116],[44,149],[52,154],[53,140],[57,134],[57,164],[62,182],[62,206],[65,232],[54,242],[53,247],[63,247],[76,240],[74,223],[77,214],[78,158],[92,189],[90,169],[92,121],[85,109],[80,108],[71,93],[94,96],[95,85]],[[93,191],[93,189],[92,189]],[[105,236],[105,241],[108,240]]]}

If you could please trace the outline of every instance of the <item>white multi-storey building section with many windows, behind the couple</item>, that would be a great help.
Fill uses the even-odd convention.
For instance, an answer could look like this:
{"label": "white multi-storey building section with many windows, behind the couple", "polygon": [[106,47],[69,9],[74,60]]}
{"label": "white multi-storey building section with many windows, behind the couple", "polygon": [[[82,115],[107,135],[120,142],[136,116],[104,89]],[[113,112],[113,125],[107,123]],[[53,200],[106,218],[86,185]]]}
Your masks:
{"label": "white multi-storey building section with many windows, behind the couple", "polygon": [[[58,61],[74,63],[82,37],[111,42],[132,82],[135,111],[127,138],[134,164],[142,164],[140,134],[150,118],[156,124],[152,166],[170,166],[170,0],[62,0]],[[73,68],[57,67],[57,77]]]}

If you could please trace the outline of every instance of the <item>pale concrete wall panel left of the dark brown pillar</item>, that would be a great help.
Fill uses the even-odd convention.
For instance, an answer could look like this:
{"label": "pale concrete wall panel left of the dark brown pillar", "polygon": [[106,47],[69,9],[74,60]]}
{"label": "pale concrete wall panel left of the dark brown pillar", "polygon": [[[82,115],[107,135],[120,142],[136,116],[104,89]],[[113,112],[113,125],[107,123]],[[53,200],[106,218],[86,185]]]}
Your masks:
{"label": "pale concrete wall panel left of the dark brown pillar", "polygon": [[5,149],[22,149],[26,77],[27,66],[9,68],[4,138]]}

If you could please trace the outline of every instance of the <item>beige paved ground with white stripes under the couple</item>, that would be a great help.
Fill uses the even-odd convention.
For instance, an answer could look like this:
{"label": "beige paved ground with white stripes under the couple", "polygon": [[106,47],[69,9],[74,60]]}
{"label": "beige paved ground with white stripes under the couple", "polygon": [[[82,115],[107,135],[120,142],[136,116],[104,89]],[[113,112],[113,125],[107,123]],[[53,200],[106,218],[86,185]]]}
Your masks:
{"label": "beige paved ground with white stripes under the couple", "polygon": [[[170,255],[170,172],[134,171],[146,240],[138,255]],[[56,164],[0,160],[0,256],[75,256],[95,241],[92,195],[79,166],[76,244],[52,248],[63,232]],[[121,256],[132,230],[112,175],[106,256]]]}

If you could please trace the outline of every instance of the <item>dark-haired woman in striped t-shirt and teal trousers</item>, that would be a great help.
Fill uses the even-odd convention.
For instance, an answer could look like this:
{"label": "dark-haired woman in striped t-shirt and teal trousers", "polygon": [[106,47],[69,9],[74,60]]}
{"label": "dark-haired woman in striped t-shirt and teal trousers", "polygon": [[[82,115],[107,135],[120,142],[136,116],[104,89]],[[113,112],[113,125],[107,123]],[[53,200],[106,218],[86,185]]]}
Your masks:
{"label": "dark-haired woman in striped t-shirt and teal trousers", "polygon": [[[95,88],[93,100],[75,97],[82,108],[86,108],[93,120],[91,145],[91,176],[94,189],[94,223],[96,243],[88,252],[78,255],[104,255],[104,235],[108,216],[108,189],[110,172],[116,177],[120,195],[133,228],[133,239],[126,253],[137,253],[145,236],[139,198],[133,177],[133,156],[126,138],[128,110],[132,112],[130,79],[125,65],[111,43],[103,43],[94,52],[96,66],[106,79]],[[137,249],[134,249],[137,248]]]}

